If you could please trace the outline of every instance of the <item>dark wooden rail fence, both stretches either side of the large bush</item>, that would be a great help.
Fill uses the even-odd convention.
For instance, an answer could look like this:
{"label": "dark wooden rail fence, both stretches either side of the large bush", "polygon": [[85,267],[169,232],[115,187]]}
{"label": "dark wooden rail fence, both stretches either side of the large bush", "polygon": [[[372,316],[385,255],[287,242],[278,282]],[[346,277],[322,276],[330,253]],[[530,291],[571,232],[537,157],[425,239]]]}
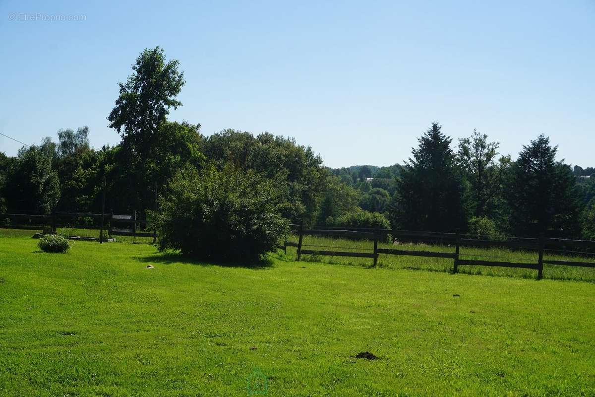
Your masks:
{"label": "dark wooden rail fence, both stretches either side of the large bush", "polygon": [[[92,218],[99,224],[99,226],[77,225],[72,223],[64,223],[65,219],[78,218]],[[8,221],[8,222],[7,222]],[[57,227],[71,227],[73,229],[99,229],[99,242],[103,242],[104,230],[110,236],[134,236],[134,237],[153,237],[153,242],[156,240],[156,232],[147,232],[146,226],[148,221],[137,217],[136,211],[131,215],[114,214],[113,212],[106,214],[94,212],[54,212],[52,215],[39,214],[0,214],[0,229],[24,229],[24,230],[39,230],[42,233],[55,232]],[[140,227],[139,226],[143,226]],[[580,246],[595,251],[595,241],[590,240],[569,240],[569,239],[552,239],[541,236],[539,239],[528,239],[521,237],[509,237],[506,240],[490,240],[481,238],[468,238],[461,236],[458,233],[434,233],[434,232],[417,232],[411,230],[389,230],[389,229],[339,229],[330,227],[315,227],[315,229],[304,229],[303,226],[292,224],[290,225],[294,232],[299,236],[298,242],[285,241],[283,245],[278,248],[284,249],[287,252],[288,246],[295,246],[297,248],[297,260],[300,260],[303,255],[327,255],[336,257],[357,257],[370,258],[372,264],[377,265],[378,257],[383,255],[405,255],[415,257],[429,257],[429,258],[446,258],[453,260],[453,272],[458,271],[459,266],[475,265],[475,266],[499,266],[511,268],[528,268],[537,270],[537,277],[541,279],[543,276],[543,265],[564,265],[564,266],[578,266],[595,268],[595,263],[586,261],[566,261],[566,260],[547,260],[543,258],[545,251],[560,251],[563,254],[577,253],[587,254],[586,252],[568,251],[568,246]],[[326,237],[343,237],[348,239],[365,239],[373,242],[372,252],[346,252],[346,251],[331,251],[330,249],[303,249],[303,236],[315,235]],[[396,248],[378,248],[378,242],[386,240],[387,236],[392,236],[394,239],[405,241],[426,241],[437,244],[449,243],[455,246],[455,252],[434,252],[434,251],[417,251],[408,249]],[[509,262],[509,261],[486,261],[486,260],[466,260],[461,259],[461,247],[475,246],[483,248],[505,247],[509,249],[524,249],[534,251],[537,254],[537,260],[533,263],[524,262]],[[560,250],[552,250],[549,247],[563,248]],[[325,247],[331,248],[331,247]],[[590,253],[592,254],[592,253]]]}

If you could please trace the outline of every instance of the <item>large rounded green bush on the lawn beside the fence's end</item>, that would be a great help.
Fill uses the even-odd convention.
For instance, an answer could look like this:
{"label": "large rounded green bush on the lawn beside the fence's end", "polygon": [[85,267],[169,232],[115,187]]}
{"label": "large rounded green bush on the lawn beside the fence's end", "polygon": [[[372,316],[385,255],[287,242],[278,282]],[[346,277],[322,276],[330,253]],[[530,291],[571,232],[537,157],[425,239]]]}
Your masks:
{"label": "large rounded green bush on the lawn beside the fence's end", "polygon": [[161,251],[202,260],[253,261],[272,251],[287,231],[277,190],[252,171],[187,168],[152,213]]}

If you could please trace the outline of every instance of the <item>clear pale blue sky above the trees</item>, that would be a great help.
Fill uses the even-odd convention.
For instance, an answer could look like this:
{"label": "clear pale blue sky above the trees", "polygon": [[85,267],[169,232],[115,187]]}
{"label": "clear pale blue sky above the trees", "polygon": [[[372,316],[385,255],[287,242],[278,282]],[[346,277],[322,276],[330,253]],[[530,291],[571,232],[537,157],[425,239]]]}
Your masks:
{"label": "clear pale blue sky above the trees", "polygon": [[331,167],[389,165],[437,120],[513,157],[545,133],[559,158],[595,166],[595,0],[0,0],[0,37],[0,132],[26,143],[84,125],[93,146],[117,143],[117,83],[159,45],[186,76],[170,118],[205,135],[268,131]]}

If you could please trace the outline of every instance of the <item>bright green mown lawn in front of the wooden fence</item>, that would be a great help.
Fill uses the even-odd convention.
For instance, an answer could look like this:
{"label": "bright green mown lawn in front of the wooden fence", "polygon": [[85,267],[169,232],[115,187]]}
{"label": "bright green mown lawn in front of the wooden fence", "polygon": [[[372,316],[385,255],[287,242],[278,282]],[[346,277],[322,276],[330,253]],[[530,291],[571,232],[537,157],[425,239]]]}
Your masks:
{"label": "bright green mown lawn in front of the wooden fence", "polygon": [[592,282],[0,233],[2,396],[595,396]]}

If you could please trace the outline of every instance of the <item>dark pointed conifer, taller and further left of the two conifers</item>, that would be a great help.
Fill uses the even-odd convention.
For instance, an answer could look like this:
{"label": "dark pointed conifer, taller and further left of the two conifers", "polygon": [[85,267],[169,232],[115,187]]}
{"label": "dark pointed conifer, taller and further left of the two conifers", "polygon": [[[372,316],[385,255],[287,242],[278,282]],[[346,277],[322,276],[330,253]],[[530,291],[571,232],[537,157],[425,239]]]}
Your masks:
{"label": "dark pointed conifer, taller and further left of the two conifers", "polygon": [[450,148],[452,139],[433,123],[419,139],[397,183],[393,227],[452,231],[464,227],[462,183]]}

